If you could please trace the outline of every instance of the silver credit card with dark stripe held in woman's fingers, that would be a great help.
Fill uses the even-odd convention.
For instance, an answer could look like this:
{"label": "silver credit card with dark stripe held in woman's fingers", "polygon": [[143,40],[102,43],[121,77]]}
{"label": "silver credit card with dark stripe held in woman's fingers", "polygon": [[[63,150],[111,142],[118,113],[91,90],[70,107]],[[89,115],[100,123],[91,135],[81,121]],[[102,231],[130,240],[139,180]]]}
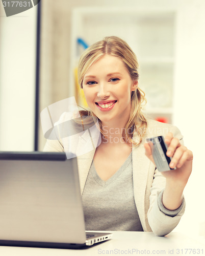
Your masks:
{"label": "silver credit card with dark stripe held in woman's fingers", "polygon": [[167,145],[164,142],[163,136],[149,138],[147,139],[147,142],[151,147],[152,156],[159,172],[166,172],[167,170],[176,169],[169,167],[172,158],[166,155]]}

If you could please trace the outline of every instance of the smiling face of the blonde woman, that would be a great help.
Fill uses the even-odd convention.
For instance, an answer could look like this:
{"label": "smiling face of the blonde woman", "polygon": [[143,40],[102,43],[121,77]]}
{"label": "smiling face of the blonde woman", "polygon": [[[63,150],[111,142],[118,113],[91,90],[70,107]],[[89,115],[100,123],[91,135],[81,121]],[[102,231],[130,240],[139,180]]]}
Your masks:
{"label": "smiling face of the blonde woman", "polygon": [[131,111],[131,93],[138,81],[131,79],[118,57],[104,55],[85,73],[83,90],[91,111],[102,124],[127,122]]}

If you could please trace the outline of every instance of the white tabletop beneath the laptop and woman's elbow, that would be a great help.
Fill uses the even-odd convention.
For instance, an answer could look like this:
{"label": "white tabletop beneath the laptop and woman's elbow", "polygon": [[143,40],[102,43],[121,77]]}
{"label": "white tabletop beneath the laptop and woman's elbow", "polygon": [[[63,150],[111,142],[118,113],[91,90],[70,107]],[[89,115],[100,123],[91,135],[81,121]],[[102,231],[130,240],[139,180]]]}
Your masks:
{"label": "white tabletop beneath the laptop and woman's elbow", "polygon": [[205,244],[171,232],[156,237],[152,232],[112,231],[113,238],[88,249],[49,249],[0,246],[1,256],[63,256],[63,255],[205,255]]}

